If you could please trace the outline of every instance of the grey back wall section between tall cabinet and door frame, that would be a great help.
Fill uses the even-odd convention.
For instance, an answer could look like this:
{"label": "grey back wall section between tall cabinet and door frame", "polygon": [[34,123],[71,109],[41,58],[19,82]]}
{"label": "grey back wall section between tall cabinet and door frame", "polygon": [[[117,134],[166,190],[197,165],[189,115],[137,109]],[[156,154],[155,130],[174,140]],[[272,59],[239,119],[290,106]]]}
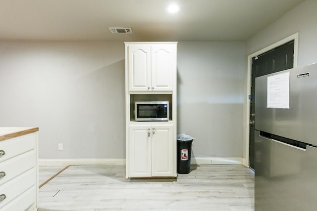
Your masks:
{"label": "grey back wall section between tall cabinet and door frame", "polygon": [[178,133],[195,157],[242,157],[244,42],[179,42]]}

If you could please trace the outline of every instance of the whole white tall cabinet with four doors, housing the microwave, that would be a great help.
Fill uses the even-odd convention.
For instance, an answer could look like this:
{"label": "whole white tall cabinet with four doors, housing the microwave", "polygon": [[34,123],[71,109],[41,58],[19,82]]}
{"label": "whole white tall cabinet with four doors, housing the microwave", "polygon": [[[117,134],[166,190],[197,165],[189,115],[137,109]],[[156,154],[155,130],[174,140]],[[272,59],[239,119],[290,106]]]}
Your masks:
{"label": "whole white tall cabinet with four doors, housing the microwave", "polygon": [[[177,42],[125,42],[126,178],[176,177]],[[169,101],[169,121],[136,122],[136,101]]]}

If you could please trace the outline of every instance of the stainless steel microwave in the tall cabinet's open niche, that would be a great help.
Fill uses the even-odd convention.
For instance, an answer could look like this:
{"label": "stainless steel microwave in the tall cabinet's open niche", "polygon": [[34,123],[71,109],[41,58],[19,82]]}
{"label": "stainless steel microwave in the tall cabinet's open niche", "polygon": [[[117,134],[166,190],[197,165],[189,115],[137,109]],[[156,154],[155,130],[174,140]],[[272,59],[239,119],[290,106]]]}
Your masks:
{"label": "stainless steel microwave in the tall cabinet's open niche", "polygon": [[135,102],[135,121],[168,121],[168,101]]}

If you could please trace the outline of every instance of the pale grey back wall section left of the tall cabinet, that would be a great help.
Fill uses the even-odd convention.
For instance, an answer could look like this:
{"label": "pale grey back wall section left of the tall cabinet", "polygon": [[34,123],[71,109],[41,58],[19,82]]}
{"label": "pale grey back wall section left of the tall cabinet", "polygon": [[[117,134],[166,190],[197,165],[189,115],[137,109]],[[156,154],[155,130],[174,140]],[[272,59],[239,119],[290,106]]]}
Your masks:
{"label": "pale grey back wall section left of the tall cabinet", "polygon": [[125,157],[123,42],[3,41],[0,58],[0,126],[39,127],[40,158]]}

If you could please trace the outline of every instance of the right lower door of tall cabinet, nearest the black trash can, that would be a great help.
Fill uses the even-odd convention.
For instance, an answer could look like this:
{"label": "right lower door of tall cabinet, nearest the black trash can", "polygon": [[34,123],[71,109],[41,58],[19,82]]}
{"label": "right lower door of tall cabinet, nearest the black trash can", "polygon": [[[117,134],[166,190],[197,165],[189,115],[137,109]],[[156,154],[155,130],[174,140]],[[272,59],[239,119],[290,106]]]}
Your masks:
{"label": "right lower door of tall cabinet, nearest the black trash can", "polygon": [[[174,140],[176,141],[176,140]],[[175,176],[173,126],[152,126],[152,176]]]}

